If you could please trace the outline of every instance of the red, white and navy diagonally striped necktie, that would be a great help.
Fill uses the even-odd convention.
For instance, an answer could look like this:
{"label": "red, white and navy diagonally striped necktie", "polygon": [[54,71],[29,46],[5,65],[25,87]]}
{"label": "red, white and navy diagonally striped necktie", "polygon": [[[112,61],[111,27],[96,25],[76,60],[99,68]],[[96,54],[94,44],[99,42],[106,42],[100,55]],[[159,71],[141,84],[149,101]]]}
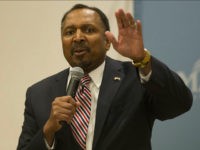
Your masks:
{"label": "red, white and navy diagonally striped necktie", "polygon": [[86,138],[91,111],[90,81],[91,78],[89,75],[85,75],[81,78],[80,85],[75,95],[75,100],[79,101],[81,106],[76,109],[76,113],[71,121],[74,138],[84,150],[86,149]]}

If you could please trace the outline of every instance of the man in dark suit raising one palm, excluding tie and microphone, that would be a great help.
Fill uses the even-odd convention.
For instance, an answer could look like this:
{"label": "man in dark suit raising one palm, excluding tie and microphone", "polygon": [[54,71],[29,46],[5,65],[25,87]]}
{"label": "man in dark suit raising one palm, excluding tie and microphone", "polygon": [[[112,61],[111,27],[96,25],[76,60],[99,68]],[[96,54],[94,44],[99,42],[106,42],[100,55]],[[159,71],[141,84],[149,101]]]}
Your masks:
{"label": "man in dark suit raising one palm, excluding tie and microphone", "polygon": [[[115,15],[118,39],[97,8],[75,5],[62,19],[65,58],[91,77],[86,147],[81,148],[70,126],[81,104],[65,96],[68,68],[28,88],[18,150],[151,150],[155,119],[171,119],[190,109],[190,90],[144,49],[141,22],[122,9]],[[111,43],[133,62],[106,56]]]}

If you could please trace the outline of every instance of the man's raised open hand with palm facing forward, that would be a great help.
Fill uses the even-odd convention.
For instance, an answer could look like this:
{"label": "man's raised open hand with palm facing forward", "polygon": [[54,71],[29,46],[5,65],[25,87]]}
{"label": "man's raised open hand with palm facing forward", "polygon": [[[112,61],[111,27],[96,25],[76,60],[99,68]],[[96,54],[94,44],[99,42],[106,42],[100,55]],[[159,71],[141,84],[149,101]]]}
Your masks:
{"label": "man's raised open hand with palm facing forward", "polygon": [[119,30],[118,39],[109,31],[105,33],[107,38],[121,55],[134,61],[142,60],[144,58],[144,44],[141,22],[134,21],[132,15],[125,14],[122,9],[119,9],[115,15]]}

